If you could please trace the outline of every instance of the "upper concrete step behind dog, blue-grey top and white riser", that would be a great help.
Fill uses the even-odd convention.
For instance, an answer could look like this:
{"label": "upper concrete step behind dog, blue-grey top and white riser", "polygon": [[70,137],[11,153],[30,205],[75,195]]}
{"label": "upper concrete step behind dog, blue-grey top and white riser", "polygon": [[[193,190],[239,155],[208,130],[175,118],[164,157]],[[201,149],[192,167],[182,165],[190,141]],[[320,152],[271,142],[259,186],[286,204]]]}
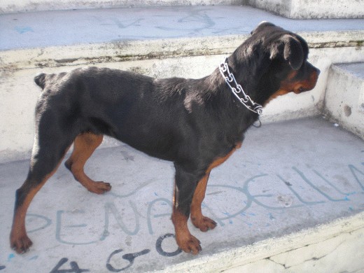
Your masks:
{"label": "upper concrete step behind dog, blue-grey top and white riser", "polygon": [[244,6],[1,15],[0,162],[29,158],[40,92],[33,83],[36,73],[97,65],[158,78],[200,78],[214,71],[262,20],[304,36],[310,61],[321,69],[311,92],[269,103],[265,122],[321,113],[332,62],[364,62],[364,20],[290,20]]}

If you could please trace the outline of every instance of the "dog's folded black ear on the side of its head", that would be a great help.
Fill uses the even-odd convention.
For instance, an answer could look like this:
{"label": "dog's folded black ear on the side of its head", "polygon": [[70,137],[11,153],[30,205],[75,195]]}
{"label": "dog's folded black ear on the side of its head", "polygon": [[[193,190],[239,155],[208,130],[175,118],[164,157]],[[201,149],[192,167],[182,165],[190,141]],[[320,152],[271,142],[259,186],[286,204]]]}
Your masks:
{"label": "dog's folded black ear on the side of its head", "polygon": [[300,69],[304,61],[304,52],[300,41],[290,34],[281,36],[278,43],[272,45],[270,53],[270,59],[275,59],[281,55],[295,70]]}

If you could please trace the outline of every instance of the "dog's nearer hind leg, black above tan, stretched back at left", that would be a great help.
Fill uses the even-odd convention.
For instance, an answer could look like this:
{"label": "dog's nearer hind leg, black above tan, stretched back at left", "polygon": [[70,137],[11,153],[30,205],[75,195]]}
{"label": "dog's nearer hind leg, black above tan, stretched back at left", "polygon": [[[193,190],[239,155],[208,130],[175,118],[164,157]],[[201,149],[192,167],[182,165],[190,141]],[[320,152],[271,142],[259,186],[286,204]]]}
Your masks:
{"label": "dog's nearer hind leg, black above tan, stretched back at left", "polygon": [[[45,182],[55,173],[72,141],[62,142],[55,134],[43,134],[41,145],[36,135],[27,179],[15,193],[13,226],[10,232],[10,247],[24,253],[31,246],[25,229],[25,216],[31,200]],[[64,145],[62,145],[62,143]]]}

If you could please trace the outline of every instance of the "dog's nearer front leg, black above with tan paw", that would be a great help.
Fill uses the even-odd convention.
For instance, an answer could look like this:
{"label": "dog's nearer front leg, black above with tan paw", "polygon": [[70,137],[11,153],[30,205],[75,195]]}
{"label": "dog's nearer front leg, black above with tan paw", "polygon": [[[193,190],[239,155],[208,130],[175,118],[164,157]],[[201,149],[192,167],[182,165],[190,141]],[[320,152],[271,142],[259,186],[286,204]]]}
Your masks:
{"label": "dog's nearer front leg, black above with tan paw", "polygon": [[190,216],[190,206],[195,193],[198,176],[186,172],[175,165],[176,180],[174,183],[174,205],[172,222],[176,232],[176,241],[179,247],[186,253],[197,254],[202,251],[200,241],[191,235],[187,221]]}

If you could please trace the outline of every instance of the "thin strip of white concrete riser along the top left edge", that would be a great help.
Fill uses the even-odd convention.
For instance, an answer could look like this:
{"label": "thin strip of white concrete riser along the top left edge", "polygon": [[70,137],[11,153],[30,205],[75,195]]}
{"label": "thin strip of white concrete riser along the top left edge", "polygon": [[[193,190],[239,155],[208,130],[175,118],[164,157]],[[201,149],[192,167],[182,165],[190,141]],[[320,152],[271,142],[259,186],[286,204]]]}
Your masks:
{"label": "thin strip of white concrete riser along the top left edge", "polygon": [[142,6],[239,5],[241,0],[2,0],[0,13]]}

